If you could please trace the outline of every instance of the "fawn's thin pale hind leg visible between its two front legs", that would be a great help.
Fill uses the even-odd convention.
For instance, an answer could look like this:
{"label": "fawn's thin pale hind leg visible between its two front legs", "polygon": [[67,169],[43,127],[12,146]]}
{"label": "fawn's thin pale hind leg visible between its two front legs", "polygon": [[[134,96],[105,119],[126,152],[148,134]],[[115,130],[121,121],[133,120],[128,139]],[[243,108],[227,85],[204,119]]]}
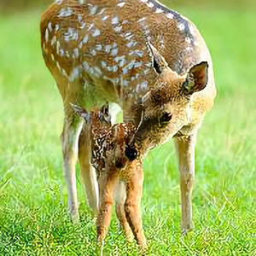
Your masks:
{"label": "fawn's thin pale hind leg visible between its two front legs", "polygon": [[127,219],[125,217],[125,200],[126,200],[125,183],[122,183],[119,181],[119,183],[116,186],[115,195],[116,195],[116,199],[115,199],[116,215],[119,218],[120,225],[125,230],[125,236],[127,241],[131,241],[132,239],[131,227],[128,224]]}

